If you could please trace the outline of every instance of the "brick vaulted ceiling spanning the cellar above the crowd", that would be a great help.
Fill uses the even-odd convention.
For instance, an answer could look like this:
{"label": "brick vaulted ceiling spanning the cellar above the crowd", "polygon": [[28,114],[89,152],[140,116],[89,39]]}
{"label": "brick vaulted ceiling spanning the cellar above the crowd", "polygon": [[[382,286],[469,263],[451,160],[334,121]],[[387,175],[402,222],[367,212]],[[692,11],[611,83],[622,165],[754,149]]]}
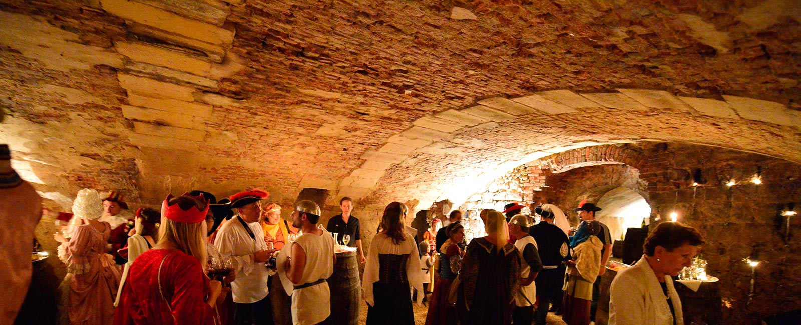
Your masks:
{"label": "brick vaulted ceiling spanning the cellar above the crowd", "polygon": [[0,142],[58,203],[428,203],[642,140],[801,162],[793,0],[0,2]]}

